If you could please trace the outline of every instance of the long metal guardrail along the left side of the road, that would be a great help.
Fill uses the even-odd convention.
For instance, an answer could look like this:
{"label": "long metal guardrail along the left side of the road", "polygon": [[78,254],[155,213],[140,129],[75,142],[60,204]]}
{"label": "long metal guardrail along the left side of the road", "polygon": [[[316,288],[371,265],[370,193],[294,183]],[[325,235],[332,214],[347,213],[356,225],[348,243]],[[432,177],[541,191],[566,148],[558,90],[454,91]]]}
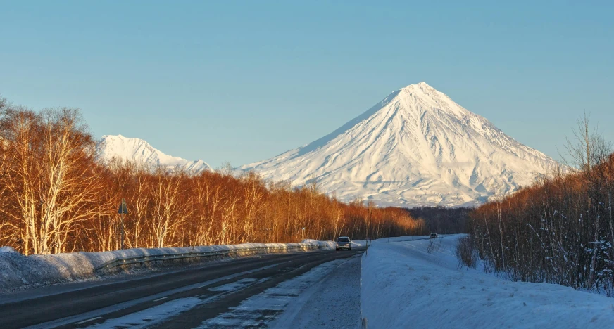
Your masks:
{"label": "long metal guardrail along the left side of the road", "polygon": [[94,271],[108,270],[113,269],[117,266],[128,265],[128,264],[142,264],[146,262],[156,262],[156,261],[164,261],[164,260],[174,260],[174,259],[187,259],[187,258],[199,258],[199,257],[214,257],[214,256],[230,256],[231,254],[239,254],[243,252],[251,252],[253,254],[261,254],[264,252],[278,252],[288,251],[288,250],[321,250],[327,249],[327,245],[318,244],[318,245],[290,245],[283,247],[245,247],[238,249],[230,249],[230,250],[212,250],[208,252],[184,252],[181,254],[155,254],[155,255],[146,255],[139,257],[121,257],[117,259],[113,259],[108,261],[94,269]]}

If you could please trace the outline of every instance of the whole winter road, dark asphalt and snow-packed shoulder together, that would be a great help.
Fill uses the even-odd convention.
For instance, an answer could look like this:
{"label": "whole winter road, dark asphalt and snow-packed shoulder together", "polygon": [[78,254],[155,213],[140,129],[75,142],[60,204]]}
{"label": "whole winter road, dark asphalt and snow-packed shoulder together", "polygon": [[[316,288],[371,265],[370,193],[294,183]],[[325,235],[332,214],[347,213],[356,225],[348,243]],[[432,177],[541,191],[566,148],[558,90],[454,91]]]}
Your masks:
{"label": "whole winter road, dark asphalt and snow-packed shoulder together", "polygon": [[[42,288],[39,295],[32,290],[3,295],[0,328],[260,328],[275,326],[272,321],[280,316],[296,323],[294,328],[322,323],[357,328],[331,325],[338,313],[327,307],[347,296],[353,304],[345,313],[358,323],[362,253],[354,247],[351,252],[270,254],[130,280],[79,283],[75,290],[63,285]],[[296,317],[301,309],[319,314],[313,318],[318,322]],[[343,323],[349,322],[343,318]]]}

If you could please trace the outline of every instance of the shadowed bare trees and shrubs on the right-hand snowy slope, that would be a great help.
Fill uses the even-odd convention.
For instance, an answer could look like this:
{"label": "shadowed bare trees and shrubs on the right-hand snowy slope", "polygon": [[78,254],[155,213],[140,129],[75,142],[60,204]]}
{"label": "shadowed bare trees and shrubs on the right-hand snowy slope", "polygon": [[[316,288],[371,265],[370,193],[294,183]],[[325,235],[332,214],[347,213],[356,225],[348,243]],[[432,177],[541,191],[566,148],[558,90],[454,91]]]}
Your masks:
{"label": "shadowed bare trees and shrubs on the right-hand snowy slope", "polygon": [[[487,271],[513,280],[608,292],[614,286],[614,154],[587,117],[568,141],[573,167],[479,207],[463,240]],[[464,244],[464,245],[463,245]]]}

